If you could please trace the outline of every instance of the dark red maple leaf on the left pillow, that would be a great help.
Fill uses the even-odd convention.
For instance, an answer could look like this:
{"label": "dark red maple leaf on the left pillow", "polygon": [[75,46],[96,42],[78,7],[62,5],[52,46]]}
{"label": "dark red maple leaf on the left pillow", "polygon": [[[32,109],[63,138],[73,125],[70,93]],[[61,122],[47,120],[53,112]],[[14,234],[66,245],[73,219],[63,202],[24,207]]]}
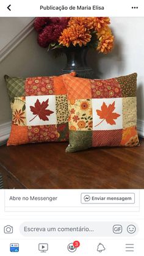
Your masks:
{"label": "dark red maple leaf on the left pillow", "polygon": [[[40,101],[37,99],[37,101],[35,102],[35,106],[30,106],[31,112],[33,112],[33,115],[35,115],[35,117],[38,116],[43,121],[49,120],[48,115],[51,115],[54,112],[49,109],[46,109],[49,105],[48,101],[49,99],[40,103]],[[34,120],[35,117],[31,119],[29,122]]]}

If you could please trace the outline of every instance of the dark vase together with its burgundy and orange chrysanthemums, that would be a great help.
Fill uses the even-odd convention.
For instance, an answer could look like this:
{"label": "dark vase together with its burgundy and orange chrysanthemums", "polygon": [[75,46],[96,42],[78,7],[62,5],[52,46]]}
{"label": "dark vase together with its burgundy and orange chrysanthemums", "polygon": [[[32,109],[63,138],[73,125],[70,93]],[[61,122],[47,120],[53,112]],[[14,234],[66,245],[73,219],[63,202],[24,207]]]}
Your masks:
{"label": "dark vase together with its burgundy and orange chrysanthemums", "polygon": [[77,76],[93,78],[86,54],[89,48],[109,53],[113,48],[113,35],[109,17],[35,18],[41,47],[55,49],[55,56],[65,53],[67,65],[61,74],[76,71]]}

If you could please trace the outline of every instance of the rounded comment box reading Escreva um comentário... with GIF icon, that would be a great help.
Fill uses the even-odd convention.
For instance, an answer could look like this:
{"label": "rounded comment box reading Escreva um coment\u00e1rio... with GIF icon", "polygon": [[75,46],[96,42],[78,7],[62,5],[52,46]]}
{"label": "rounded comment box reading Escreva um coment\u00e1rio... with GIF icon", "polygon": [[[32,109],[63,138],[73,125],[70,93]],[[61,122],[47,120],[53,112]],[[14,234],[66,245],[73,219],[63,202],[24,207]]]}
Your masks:
{"label": "rounded comment box reading Escreva um coment\u00e1rio... with GIF icon", "polygon": [[[129,230],[130,229],[130,230]],[[135,236],[139,227],[134,222],[23,222],[20,233],[23,236]]]}

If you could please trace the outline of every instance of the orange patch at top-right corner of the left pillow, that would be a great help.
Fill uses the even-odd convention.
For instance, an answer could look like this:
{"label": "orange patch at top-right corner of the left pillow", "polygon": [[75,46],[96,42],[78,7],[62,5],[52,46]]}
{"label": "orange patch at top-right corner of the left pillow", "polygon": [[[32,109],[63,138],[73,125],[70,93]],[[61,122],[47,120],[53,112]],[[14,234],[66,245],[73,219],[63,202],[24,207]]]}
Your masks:
{"label": "orange patch at top-right corner of the left pillow", "polygon": [[[68,74],[68,76],[75,76],[76,72],[71,72]],[[67,94],[67,90],[65,88],[65,84],[63,82],[63,76],[67,75],[62,75],[62,76],[54,76],[54,92],[55,95],[63,95]]]}

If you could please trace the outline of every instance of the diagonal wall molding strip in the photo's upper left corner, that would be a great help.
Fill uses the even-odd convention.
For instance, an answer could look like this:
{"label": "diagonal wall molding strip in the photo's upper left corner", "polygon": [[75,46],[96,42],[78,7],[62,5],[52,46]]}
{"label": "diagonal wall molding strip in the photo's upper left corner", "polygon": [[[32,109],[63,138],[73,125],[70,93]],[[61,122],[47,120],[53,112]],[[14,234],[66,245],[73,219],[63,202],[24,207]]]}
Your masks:
{"label": "diagonal wall molding strip in the photo's upper left corner", "polygon": [[4,60],[23,40],[34,30],[34,19],[24,27],[4,48],[0,51],[0,62]]}

